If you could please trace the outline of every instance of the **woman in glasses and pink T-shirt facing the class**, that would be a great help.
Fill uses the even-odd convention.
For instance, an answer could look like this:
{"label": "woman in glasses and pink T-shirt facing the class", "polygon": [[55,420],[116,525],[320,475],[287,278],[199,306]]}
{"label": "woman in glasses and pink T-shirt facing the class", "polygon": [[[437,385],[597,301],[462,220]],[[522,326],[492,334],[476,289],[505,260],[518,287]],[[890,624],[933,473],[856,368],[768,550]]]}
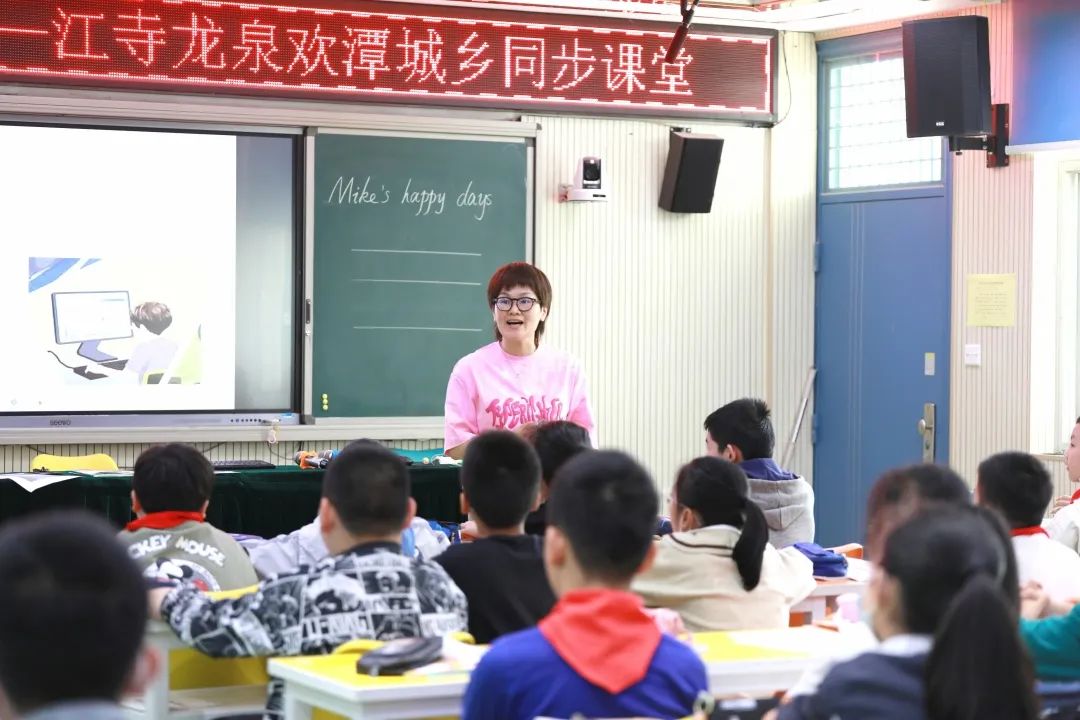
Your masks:
{"label": "woman in glasses and pink T-shirt facing the class", "polygon": [[585,375],[567,353],[540,347],[551,283],[528,262],[511,262],[487,284],[495,342],[459,359],[446,386],[444,447],[451,458],[485,430],[569,420],[593,435]]}

